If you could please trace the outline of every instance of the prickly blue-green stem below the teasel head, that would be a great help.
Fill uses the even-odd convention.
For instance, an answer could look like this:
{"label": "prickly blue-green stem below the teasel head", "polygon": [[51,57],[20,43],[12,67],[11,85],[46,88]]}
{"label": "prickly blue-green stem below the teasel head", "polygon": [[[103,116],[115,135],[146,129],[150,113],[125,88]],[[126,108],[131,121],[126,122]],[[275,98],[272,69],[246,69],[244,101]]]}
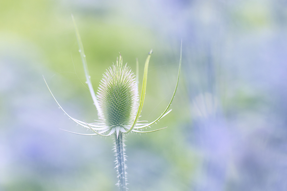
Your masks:
{"label": "prickly blue-green stem below the teasel head", "polygon": [[125,144],[123,143],[123,133],[115,133],[115,156],[116,156],[116,167],[118,173],[118,183],[120,191],[127,191],[127,173],[125,172]]}

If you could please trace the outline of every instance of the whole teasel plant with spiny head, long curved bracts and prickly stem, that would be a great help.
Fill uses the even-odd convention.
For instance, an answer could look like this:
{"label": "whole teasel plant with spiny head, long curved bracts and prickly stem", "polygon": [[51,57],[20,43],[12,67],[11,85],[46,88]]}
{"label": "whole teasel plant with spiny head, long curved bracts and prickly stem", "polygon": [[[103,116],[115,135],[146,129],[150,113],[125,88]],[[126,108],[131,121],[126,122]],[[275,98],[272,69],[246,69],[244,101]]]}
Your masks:
{"label": "whole teasel plant with spiny head, long curved bracts and prickly stem", "polygon": [[[123,65],[123,59],[120,55],[117,58],[116,64],[113,64],[110,68],[106,70],[103,74],[102,80],[100,82],[97,95],[94,92],[92,82],[90,79],[88,66],[86,62],[86,55],[84,53],[84,48],[82,45],[82,41],[79,35],[79,31],[77,29],[75,20],[72,15],[73,24],[75,27],[75,32],[77,36],[77,42],[79,45],[79,53],[82,59],[82,63],[84,66],[86,83],[88,84],[88,88],[90,90],[94,105],[96,106],[98,112],[98,120],[96,123],[86,123],[84,121],[77,120],[71,117],[58,103],[53,93],[51,92],[46,80],[44,79],[50,93],[52,94],[54,100],[60,107],[60,109],[75,123],[90,129],[93,133],[83,134],[67,131],[70,133],[74,133],[77,135],[99,135],[102,137],[114,136],[115,137],[115,156],[116,156],[116,168],[118,173],[118,183],[120,191],[127,190],[127,173],[126,173],[126,156],[125,156],[125,144],[124,144],[124,135],[128,133],[151,133],[154,131],[158,131],[164,128],[151,130],[151,131],[142,131],[147,127],[150,127],[164,116],[166,116],[171,109],[169,107],[172,103],[172,100],[175,96],[175,92],[177,90],[179,75],[181,70],[181,54],[182,54],[182,43],[181,43],[181,53],[180,53],[180,61],[179,61],[179,72],[177,76],[177,83],[175,86],[174,93],[170,100],[170,103],[164,110],[164,112],[156,118],[154,121],[150,123],[144,123],[146,121],[139,121],[139,117],[141,114],[141,110],[143,108],[145,94],[146,94],[146,84],[147,84],[147,75],[148,75],[148,65],[150,61],[150,57],[152,54],[152,50],[148,53],[148,57],[144,66],[144,76],[143,83],[141,86],[141,94],[139,95],[138,91],[138,80],[135,74],[131,71],[131,68],[127,66],[127,64]],[[137,62],[137,71],[138,71],[138,62]],[[137,74],[138,76],[138,74]],[[43,76],[44,78],[44,76]]]}

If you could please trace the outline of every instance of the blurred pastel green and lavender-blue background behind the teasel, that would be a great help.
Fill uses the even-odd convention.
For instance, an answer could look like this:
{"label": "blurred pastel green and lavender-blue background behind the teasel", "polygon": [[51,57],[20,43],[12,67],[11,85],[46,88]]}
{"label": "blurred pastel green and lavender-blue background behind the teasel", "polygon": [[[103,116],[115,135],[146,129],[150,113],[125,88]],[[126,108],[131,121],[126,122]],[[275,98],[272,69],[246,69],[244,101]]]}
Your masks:
{"label": "blurred pastel green and lavender-blue background behind the teasel", "polygon": [[126,136],[130,190],[287,190],[286,0],[0,1],[0,190],[118,190],[113,139],[97,119],[71,14],[96,90],[119,53],[140,75],[141,120]]}

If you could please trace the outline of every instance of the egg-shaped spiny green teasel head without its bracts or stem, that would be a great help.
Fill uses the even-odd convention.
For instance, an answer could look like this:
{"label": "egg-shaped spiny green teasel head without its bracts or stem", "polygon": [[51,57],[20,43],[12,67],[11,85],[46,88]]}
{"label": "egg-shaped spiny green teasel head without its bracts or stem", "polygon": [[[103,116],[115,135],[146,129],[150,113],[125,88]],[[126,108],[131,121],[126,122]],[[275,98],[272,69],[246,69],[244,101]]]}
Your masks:
{"label": "egg-shaped spiny green teasel head without its bracts or stem", "polygon": [[97,93],[103,123],[109,126],[124,126],[133,123],[138,109],[138,86],[134,73],[123,60],[103,74]]}

